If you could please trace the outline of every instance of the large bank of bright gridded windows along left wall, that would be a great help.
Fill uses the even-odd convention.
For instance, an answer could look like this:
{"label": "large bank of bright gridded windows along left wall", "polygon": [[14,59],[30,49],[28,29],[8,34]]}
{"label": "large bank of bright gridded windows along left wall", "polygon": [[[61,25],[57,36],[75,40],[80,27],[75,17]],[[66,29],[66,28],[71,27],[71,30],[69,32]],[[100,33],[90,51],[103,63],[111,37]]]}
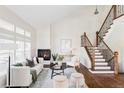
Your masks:
{"label": "large bank of bright gridded windows along left wall", "polygon": [[9,54],[11,64],[23,62],[25,58],[31,57],[31,32],[4,19],[0,19],[0,43],[12,43],[17,46],[17,49],[13,50],[0,49],[0,72],[7,70]]}

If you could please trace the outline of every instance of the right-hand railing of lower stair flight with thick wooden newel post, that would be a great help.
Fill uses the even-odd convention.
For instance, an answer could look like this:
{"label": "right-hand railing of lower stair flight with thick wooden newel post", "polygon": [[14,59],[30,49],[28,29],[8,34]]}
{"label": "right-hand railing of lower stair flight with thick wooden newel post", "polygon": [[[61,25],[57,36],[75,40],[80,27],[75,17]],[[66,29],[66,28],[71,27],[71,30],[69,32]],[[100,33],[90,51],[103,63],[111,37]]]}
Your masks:
{"label": "right-hand railing of lower stair flight with thick wooden newel post", "polygon": [[111,70],[114,70],[115,76],[118,75],[118,52],[113,52],[109,46],[104,42],[103,38],[98,36],[98,40],[101,42],[98,49],[101,51],[105,61],[111,66]]}

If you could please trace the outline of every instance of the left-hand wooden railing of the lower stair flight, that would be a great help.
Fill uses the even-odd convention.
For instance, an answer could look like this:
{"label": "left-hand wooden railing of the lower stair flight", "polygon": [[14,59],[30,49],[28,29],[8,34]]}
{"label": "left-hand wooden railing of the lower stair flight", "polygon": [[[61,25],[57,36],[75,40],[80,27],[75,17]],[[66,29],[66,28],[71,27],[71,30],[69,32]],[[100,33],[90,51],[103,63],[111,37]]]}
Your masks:
{"label": "left-hand wooden railing of the lower stair flight", "polygon": [[[81,47],[84,47],[89,58],[91,61],[91,68],[94,70],[95,67],[95,50],[93,48],[92,43],[90,42],[89,38],[87,37],[86,33],[84,32],[84,35],[81,36]],[[91,54],[92,52],[92,54]]]}

